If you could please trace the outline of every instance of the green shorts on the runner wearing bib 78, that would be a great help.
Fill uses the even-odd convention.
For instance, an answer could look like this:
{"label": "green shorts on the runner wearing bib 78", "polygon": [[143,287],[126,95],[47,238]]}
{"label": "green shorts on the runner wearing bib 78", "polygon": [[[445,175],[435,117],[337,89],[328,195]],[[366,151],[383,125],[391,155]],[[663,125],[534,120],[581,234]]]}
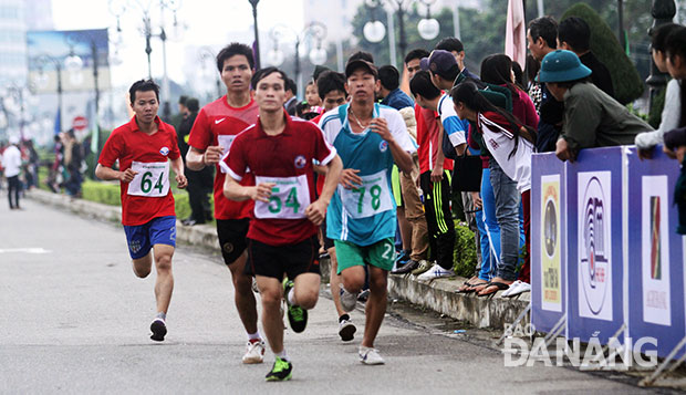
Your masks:
{"label": "green shorts on the runner wearing bib 78", "polygon": [[391,271],[395,261],[395,248],[393,239],[386,238],[371,246],[361,247],[349,241],[333,240],[336,247],[339,272],[355,266],[372,264],[380,269]]}

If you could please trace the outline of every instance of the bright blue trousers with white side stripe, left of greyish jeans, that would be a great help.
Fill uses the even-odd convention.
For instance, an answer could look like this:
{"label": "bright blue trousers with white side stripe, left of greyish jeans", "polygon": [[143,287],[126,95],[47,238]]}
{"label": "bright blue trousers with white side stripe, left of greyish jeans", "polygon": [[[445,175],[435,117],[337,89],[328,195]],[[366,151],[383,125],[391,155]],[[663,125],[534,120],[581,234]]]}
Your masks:
{"label": "bright blue trousers with white side stripe, left of greyish jeans", "polygon": [[476,212],[477,227],[481,236],[481,270],[479,279],[490,281],[496,277],[496,267],[500,257],[500,226],[496,219],[496,196],[490,184],[490,169],[481,173],[482,210]]}

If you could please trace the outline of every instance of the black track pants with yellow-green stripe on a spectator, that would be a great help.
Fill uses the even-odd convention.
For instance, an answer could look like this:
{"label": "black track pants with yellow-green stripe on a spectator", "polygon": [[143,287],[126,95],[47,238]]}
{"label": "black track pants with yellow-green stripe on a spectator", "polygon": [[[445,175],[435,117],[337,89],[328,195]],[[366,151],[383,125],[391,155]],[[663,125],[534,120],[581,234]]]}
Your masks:
{"label": "black track pants with yellow-green stripe on a spectator", "polygon": [[429,233],[430,259],[443,269],[451,270],[455,249],[455,224],[450,211],[450,171],[444,171],[440,183],[432,183],[432,171],[419,176],[424,193],[424,214]]}

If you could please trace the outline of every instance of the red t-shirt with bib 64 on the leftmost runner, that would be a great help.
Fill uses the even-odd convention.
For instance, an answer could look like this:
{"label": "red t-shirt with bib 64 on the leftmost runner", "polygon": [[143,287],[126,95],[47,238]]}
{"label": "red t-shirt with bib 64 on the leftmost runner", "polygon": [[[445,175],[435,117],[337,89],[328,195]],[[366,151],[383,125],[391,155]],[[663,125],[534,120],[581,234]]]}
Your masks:
{"label": "red t-shirt with bib 64 on the leftmost runner", "polygon": [[119,181],[122,224],[144,225],[157,217],[175,216],[174,195],[169,188],[169,160],[181,154],[174,126],[155,117],[157,132],[147,135],[138,128],[136,117],[115,128],[97,163],[112,167],[119,160],[119,170],[138,171],[131,183]]}

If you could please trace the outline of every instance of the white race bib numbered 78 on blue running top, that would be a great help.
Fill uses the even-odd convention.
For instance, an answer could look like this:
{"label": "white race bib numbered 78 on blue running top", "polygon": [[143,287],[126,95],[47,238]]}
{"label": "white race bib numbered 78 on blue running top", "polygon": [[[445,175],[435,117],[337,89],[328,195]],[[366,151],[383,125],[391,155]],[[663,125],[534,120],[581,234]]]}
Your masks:
{"label": "white race bib numbered 78 on blue running top", "polygon": [[362,186],[357,188],[346,189],[339,185],[339,194],[349,216],[366,218],[393,209],[385,170],[360,178]]}

